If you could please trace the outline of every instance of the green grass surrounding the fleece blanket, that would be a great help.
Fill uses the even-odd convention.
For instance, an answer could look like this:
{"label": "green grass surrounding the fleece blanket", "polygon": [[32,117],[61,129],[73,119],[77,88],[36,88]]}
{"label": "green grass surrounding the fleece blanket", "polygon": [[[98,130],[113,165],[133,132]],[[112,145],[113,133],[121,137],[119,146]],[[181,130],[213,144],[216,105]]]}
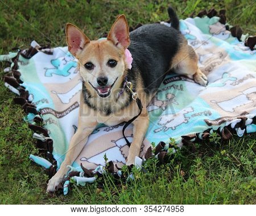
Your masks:
{"label": "green grass surrounding the fleece blanket", "polygon": [[[0,54],[13,47],[26,48],[32,40],[52,47],[65,45],[65,23],[71,22],[89,38],[100,38],[109,31],[118,14],[126,14],[130,26],[167,20],[172,5],[180,18],[193,11],[215,7],[227,10],[228,22],[239,24],[244,32],[255,34],[254,1],[0,1]],[[6,5],[7,6],[6,6]],[[11,6],[11,8],[8,8]],[[243,11],[244,10],[244,11]],[[243,13],[241,13],[243,11]],[[241,14],[240,14],[241,13]],[[24,21],[27,20],[27,22]],[[42,32],[42,33],[40,33]],[[0,63],[0,76],[7,64]],[[135,181],[113,184],[111,176],[103,181],[75,186],[68,196],[48,196],[47,176],[28,160],[37,153],[35,140],[14,94],[0,82],[0,203],[256,203],[255,135],[234,136],[226,143],[212,138],[209,143],[186,147],[170,164],[149,172],[135,172]],[[216,141],[216,142],[214,142]],[[182,171],[182,172],[181,172]],[[181,175],[182,174],[182,175]]]}

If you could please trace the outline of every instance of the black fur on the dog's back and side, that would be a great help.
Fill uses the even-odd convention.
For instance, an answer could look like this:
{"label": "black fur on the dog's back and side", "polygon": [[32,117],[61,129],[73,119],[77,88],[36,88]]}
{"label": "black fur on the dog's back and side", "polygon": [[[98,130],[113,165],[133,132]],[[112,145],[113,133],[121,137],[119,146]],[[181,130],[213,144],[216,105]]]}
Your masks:
{"label": "black fur on the dog's back and side", "polygon": [[[177,25],[176,25],[177,27]],[[130,33],[129,51],[133,56],[129,77],[135,79],[141,73],[147,93],[155,92],[170,69],[172,58],[184,41],[183,35],[173,27],[163,24],[146,24]]]}

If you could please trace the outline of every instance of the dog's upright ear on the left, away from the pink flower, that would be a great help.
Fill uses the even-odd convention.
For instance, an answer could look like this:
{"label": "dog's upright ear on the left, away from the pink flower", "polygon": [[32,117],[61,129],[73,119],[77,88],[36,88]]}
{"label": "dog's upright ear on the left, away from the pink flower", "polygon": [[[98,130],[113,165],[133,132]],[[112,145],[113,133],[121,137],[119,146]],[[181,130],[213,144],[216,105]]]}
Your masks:
{"label": "dog's upright ear on the left, away from the pink flower", "polygon": [[66,38],[68,51],[71,52],[73,56],[77,56],[77,54],[84,49],[85,45],[90,43],[89,38],[71,23],[67,23],[66,25]]}

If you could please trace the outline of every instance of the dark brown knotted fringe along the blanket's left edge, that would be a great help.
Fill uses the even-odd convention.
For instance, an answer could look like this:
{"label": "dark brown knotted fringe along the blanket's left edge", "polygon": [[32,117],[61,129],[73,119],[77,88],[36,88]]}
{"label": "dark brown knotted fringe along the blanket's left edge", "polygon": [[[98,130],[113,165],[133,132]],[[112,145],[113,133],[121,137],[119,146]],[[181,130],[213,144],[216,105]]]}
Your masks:
{"label": "dark brown knotted fringe along the blanket's left edge", "polygon": [[36,124],[42,124],[43,118],[40,116],[40,112],[36,109],[36,106],[29,101],[28,97],[30,94],[28,93],[28,91],[25,90],[24,87],[20,85],[23,82],[20,80],[21,74],[18,71],[19,55],[21,55],[25,59],[30,59],[32,56],[38,53],[38,50],[48,55],[52,55],[52,52],[49,50],[49,47],[39,47],[38,49],[34,47],[30,47],[22,51],[18,49],[17,55],[13,57],[13,59],[11,59],[14,63],[13,67],[11,67],[9,72],[11,76],[5,76],[3,78],[3,81],[9,84],[11,89],[14,88],[18,90],[19,97],[14,98],[14,102],[22,106],[22,109],[26,114],[32,113],[35,115],[33,119],[35,124],[28,124],[28,127],[35,132],[39,132],[40,135],[38,136],[44,137],[43,140],[42,139],[37,140],[36,147],[39,149],[39,155],[43,154],[44,158],[46,158],[47,160],[44,159],[43,157],[34,156],[34,155],[31,155],[30,159],[35,163],[44,167],[46,169],[46,173],[48,177],[51,178],[53,175],[55,175],[56,168],[57,168],[57,161],[53,158],[53,155],[52,155],[53,140],[49,138],[48,131],[45,128],[43,128],[42,126],[36,125]]}

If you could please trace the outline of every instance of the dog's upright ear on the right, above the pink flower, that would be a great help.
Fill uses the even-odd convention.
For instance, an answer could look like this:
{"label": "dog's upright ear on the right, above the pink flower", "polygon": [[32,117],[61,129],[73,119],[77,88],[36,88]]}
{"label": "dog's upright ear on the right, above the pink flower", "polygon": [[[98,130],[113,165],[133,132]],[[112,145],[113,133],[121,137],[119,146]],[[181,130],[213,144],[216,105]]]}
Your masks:
{"label": "dog's upright ear on the right, above the pink flower", "polygon": [[129,28],[125,15],[120,15],[115,20],[108,35],[108,40],[111,40],[116,46],[122,46],[124,49],[129,47]]}

